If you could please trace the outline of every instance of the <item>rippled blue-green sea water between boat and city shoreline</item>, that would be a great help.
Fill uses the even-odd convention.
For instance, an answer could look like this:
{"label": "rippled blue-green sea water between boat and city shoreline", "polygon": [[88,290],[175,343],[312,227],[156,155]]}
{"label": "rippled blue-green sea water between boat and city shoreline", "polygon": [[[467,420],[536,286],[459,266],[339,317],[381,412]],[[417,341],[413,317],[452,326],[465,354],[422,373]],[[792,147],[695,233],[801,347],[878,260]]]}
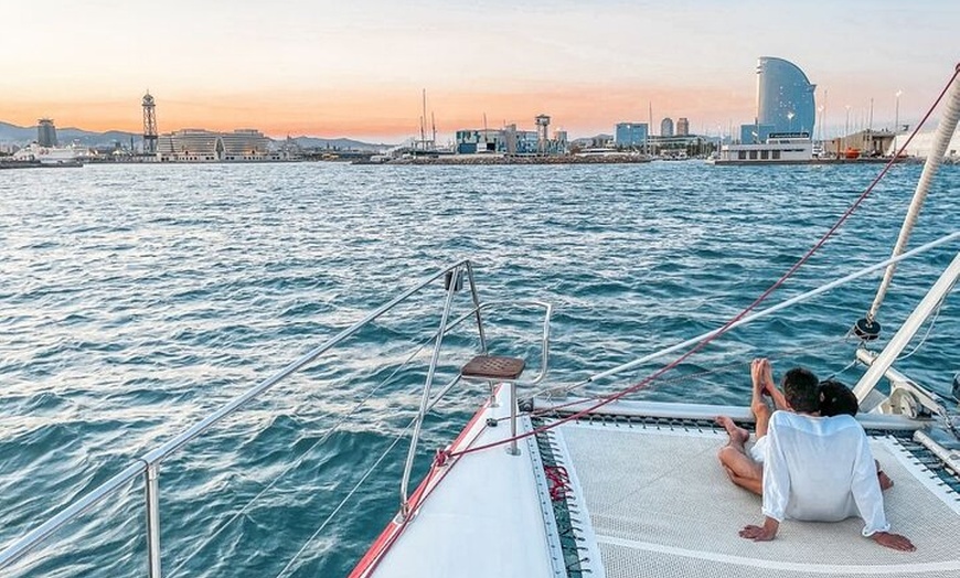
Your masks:
{"label": "rippled blue-green sea water between boat and city shoreline", "polygon": [[[0,546],[445,264],[473,259],[486,299],[553,302],[548,381],[573,383],[723,324],[877,170],[691,161],[3,171]],[[774,301],[885,258],[919,170],[895,168]],[[913,245],[957,228],[958,189],[960,171],[946,168]],[[896,325],[949,258],[937,250],[903,266],[881,320]],[[442,291],[434,285],[162,463],[164,576],[352,567],[397,509],[404,443],[310,538],[414,413],[429,353],[384,382],[436,330]],[[638,396],[746,403],[747,362],[760,354],[781,370],[802,363],[853,381],[844,367],[854,344],[842,336],[876,285],[858,281],[734,331]],[[458,307],[469,307],[466,297]],[[960,368],[956,307],[948,301],[904,362],[943,394]],[[490,321],[498,353],[535,357],[535,315]],[[476,347],[467,329],[448,340],[441,377]],[[438,406],[420,472],[480,396],[462,387]],[[142,501],[138,480],[14,575],[142,576]]]}

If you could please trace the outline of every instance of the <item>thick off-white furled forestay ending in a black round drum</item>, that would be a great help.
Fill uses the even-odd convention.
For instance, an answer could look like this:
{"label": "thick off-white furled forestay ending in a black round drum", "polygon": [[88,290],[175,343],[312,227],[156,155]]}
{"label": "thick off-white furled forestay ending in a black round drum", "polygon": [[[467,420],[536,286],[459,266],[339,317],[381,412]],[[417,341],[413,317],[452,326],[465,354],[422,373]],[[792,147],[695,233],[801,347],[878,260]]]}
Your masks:
{"label": "thick off-white furled forestay ending in a black round drum", "polygon": [[[960,69],[960,64],[958,64]],[[917,181],[917,189],[914,192],[914,200],[910,201],[910,208],[907,211],[907,216],[904,218],[904,225],[900,228],[899,237],[894,246],[893,257],[904,253],[907,247],[907,242],[910,239],[910,233],[914,231],[914,225],[917,224],[917,217],[920,214],[920,207],[924,206],[924,201],[927,199],[927,192],[930,190],[930,184],[934,182],[934,176],[937,170],[943,163],[943,154],[947,152],[947,146],[950,144],[950,139],[953,137],[953,131],[957,130],[957,120],[960,119],[960,76],[954,75],[953,82],[950,85],[947,108],[943,110],[943,116],[940,118],[940,126],[937,127],[937,133],[934,136],[934,147],[930,153],[927,154],[927,162],[924,163],[924,172],[920,174],[920,180]],[[883,281],[877,289],[876,297],[871,304],[870,312],[866,319],[861,319],[856,322],[855,329],[857,334],[864,339],[876,339],[879,334],[879,323],[875,321],[877,311],[886,297],[887,289],[894,278],[894,272],[897,270],[896,263],[892,263],[886,271],[884,271]]]}

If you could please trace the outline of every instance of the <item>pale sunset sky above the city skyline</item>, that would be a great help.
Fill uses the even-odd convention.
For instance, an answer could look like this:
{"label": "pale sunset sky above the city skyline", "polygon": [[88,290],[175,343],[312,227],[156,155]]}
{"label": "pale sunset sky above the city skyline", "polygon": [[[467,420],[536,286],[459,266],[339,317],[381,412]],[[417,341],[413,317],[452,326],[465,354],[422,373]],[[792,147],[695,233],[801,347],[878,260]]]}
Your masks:
{"label": "pale sunset sky above the city skyline", "polygon": [[[960,62],[956,0],[44,0],[0,10],[0,120],[398,141],[537,114],[572,138],[756,115],[756,61],[818,85],[825,135],[919,118]],[[897,93],[902,93],[899,97]],[[847,107],[849,113],[847,113]],[[847,116],[849,115],[849,116]]]}

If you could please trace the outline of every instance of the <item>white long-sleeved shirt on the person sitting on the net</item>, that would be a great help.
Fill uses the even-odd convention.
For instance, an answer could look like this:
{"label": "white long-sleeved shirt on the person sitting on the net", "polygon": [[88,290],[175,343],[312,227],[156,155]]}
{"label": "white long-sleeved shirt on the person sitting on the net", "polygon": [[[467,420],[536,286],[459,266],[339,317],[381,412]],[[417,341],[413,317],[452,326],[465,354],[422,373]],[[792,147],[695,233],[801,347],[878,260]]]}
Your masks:
{"label": "white long-sleeved shirt on the person sitting on the net", "polygon": [[765,437],[765,516],[838,522],[858,515],[864,536],[889,531],[873,453],[856,419],[774,411]]}

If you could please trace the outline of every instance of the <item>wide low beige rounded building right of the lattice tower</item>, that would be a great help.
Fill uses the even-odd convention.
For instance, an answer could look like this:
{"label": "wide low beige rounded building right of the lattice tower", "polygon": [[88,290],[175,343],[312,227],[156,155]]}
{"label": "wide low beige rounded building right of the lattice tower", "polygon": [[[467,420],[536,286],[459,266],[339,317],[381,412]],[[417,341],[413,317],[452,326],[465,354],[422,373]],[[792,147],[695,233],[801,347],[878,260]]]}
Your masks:
{"label": "wide low beige rounded building right of the lattice tower", "polygon": [[271,141],[256,129],[212,132],[183,129],[158,139],[158,156],[163,162],[255,162],[286,160],[271,150]]}

